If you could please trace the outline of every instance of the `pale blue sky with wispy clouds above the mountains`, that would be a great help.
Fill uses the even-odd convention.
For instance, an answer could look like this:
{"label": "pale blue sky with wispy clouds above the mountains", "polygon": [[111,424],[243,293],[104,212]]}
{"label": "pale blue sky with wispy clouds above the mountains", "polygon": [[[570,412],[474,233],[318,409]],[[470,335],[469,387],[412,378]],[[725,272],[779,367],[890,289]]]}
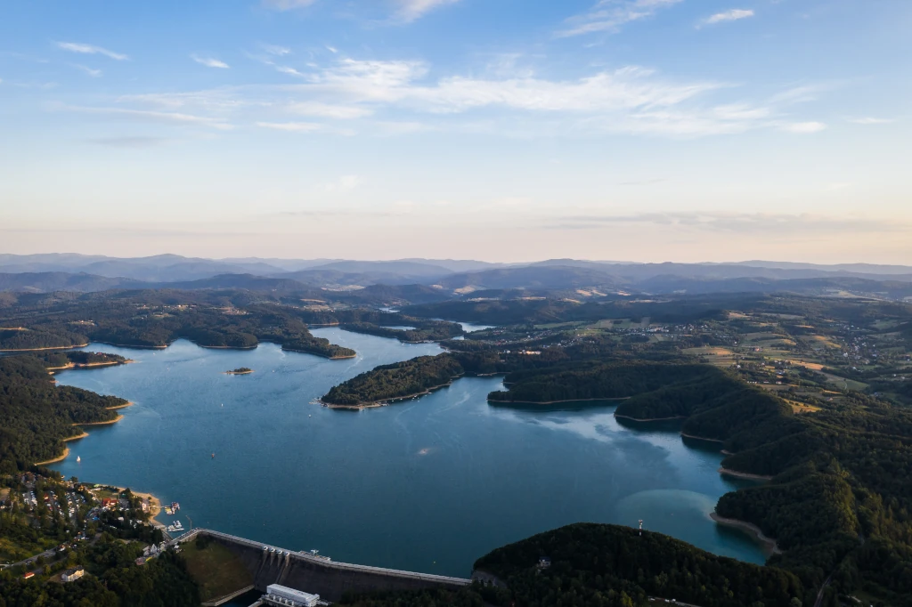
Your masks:
{"label": "pale blue sky with wispy clouds above the mountains", "polygon": [[912,264],[908,0],[0,9],[0,252]]}

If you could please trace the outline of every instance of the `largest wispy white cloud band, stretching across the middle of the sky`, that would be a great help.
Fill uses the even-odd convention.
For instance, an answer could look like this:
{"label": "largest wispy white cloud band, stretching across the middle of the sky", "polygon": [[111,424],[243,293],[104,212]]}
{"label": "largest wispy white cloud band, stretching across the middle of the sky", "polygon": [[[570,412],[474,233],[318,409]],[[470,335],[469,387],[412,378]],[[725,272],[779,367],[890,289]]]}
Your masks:
{"label": "largest wispy white cloud band, stretching across the middle of the sky", "polygon": [[[757,129],[810,134],[826,128],[823,122],[790,119],[789,106],[796,96],[805,94],[799,89],[756,102],[724,102],[719,98],[733,88],[729,83],[677,81],[636,66],[575,79],[539,77],[531,71],[431,79],[430,65],[422,61],[345,57],[300,72],[268,58],[254,58],[298,77],[299,82],[144,94],[118,101],[124,108],[210,117],[215,124],[262,123],[266,129],[313,131],[316,122],[309,118],[349,122],[369,118],[370,123],[359,124],[358,131],[375,134],[433,128],[523,138],[605,133],[693,138]],[[500,112],[501,118],[486,119],[483,112]],[[306,119],[288,120],[290,115]],[[425,118],[416,118],[420,115],[437,118],[427,125]],[[472,118],[457,118],[463,115]],[[337,126],[322,130],[352,133]]]}

